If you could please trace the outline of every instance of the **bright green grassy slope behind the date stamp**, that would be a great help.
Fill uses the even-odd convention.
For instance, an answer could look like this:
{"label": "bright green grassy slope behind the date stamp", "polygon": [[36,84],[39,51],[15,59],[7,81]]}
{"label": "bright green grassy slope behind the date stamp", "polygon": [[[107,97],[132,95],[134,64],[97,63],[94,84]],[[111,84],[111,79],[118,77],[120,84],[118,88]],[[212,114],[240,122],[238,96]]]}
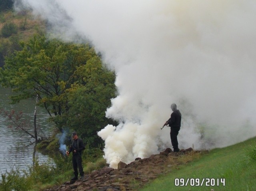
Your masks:
{"label": "bright green grassy slope behind the date stamp", "polygon": [[[174,169],[171,173],[158,177],[142,191],[254,191],[256,190],[256,162],[248,163],[246,153],[250,145],[256,145],[256,137],[225,147],[213,149],[200,159]],[[175,178],[225,178],[226,186],[176,187]]]}

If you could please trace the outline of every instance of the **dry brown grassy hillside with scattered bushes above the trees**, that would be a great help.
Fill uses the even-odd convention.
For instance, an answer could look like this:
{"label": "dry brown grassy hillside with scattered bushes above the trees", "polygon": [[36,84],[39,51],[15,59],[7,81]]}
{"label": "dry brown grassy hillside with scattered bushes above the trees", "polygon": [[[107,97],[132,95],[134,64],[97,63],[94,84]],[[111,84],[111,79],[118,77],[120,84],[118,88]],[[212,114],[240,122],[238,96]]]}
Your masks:
{"label": "dry brown grassy hillside with scattered bushes above the trees", "polygon": [[4,56],[20,50],[20,41],[26,42],[34,34],[44,33],[46,24],[35,18],[30,11],[0,12],[0,67],[4,65]]}

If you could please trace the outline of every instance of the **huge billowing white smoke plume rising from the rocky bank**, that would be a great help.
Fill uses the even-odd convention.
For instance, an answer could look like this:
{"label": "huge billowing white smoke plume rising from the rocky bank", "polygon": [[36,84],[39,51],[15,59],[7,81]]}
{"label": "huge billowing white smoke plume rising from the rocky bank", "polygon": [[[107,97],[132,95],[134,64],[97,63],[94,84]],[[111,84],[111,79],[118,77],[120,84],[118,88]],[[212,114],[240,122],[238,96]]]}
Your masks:
{"label": "huge billowing white smoke plume rising from the rocky bank", "polygon": [[170,144],[160,130],[175,102],[180,148],[224,147],[256,135],[254,0],[20,0],[64,40],[80,34],[116,72],[118,96],[98,133],[111,167]]}

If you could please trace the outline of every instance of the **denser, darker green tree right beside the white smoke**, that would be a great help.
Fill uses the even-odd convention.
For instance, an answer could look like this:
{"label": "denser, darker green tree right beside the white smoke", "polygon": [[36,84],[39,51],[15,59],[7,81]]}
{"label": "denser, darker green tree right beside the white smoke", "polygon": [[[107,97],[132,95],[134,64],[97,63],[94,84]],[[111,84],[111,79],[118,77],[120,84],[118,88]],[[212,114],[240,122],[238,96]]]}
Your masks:
{"label": "denser, darker green tree right beside the white smoke", "polygon": [[60,120],[86,137],[87,144],[98,147],[103,142],[97,131],[107,124],[116,125],[115,121],[105,117],[106,109],[111,105],[110,99],[116,95],[115,75],[102,68],[98,56],[80,66],[74,75],[80,76],[80,80],[67,90],[69,109]]}

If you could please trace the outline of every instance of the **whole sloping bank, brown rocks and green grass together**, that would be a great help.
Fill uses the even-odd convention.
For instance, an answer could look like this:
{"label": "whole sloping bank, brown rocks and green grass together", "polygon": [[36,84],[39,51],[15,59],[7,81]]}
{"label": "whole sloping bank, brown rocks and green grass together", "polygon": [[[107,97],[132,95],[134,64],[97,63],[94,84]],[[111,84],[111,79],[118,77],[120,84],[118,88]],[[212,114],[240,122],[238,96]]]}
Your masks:
{"label": "whole sloping bank, brown rocks and green grass together", "polygon": [[[251,156],[248,157],[248,156]],[[254,191],[256,188],[256,137],[208,151],[192,148],[173,153],[171,149],[136,159],[126,165],[120,162],[118,169],[104,167],[85,175],[75,183],[66,182],[48,191]],[[176,178],[215,179],[215,186],[175,186]],[[219,186],[217,186],[219,179]],[[223,185],[225,179],[225,186]],[[189,182],[190,183],[190,182]],[[181,184],[181,183],[180,183]],[[213,183],[212,183],[213,184]]]}

